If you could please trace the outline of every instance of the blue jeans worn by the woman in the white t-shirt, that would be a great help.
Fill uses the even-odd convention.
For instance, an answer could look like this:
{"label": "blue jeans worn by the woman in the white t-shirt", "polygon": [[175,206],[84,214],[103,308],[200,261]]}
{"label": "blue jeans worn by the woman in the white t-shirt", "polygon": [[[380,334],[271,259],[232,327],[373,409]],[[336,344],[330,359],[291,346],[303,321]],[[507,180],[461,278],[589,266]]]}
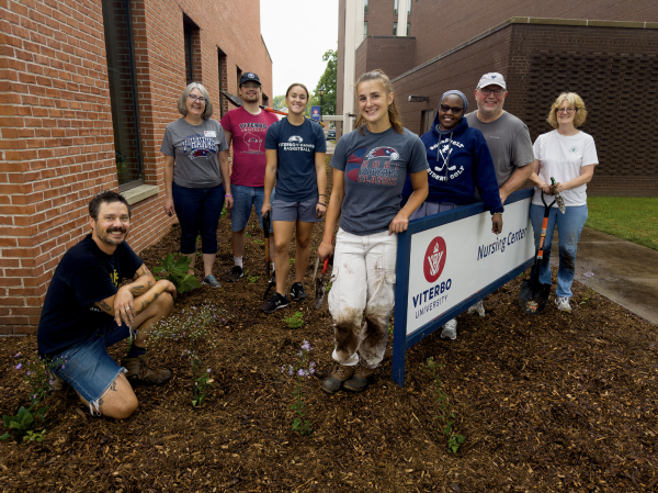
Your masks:
{"label": "blue jeans worn by the woman in the white t-shirt", "polygon": [[[544,221],[544,206],[531,204],[530,220],[535,235],[535,256],[540,246],[542,236],[542,223]],[[559,237],[559,269],[557,270],[557,290],[555,294],[558,298],[571,298],[571,283],[576,273],[576,248],[580,240],[582,226],[587,221],[587,205],[577,205],[567,208],[566,213],[559,212],[554,206],[548,213],[548,225],[546,226],[546,238],[544,239],[544,259],[540,267],[540,282],[551,284],[551,248],[553,246],[553,231],[557,224],[557,235]],[[532,268],[531,279],[534,279],[535,271]]]}

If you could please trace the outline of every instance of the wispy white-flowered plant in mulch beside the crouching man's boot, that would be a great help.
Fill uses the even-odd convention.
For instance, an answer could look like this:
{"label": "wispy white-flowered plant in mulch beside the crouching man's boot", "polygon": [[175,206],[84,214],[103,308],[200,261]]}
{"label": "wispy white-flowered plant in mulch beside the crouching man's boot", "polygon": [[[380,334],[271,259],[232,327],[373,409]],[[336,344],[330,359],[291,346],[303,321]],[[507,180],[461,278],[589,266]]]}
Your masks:
{"label": "wispy white-flowered plant in mulch beside the crouching man's boot", "polygon": [[[189,358],[192,366],[192,406],[194,407],[203,404],[211,388],[214,386],[214,380],[211,376],[212,370],[202,363],[196,349],[203,343],[215,346],[209,327],[218,322],[215,306],[204,304],[201,309],[192,306],[188,312],[183,310],[180,316],[171,316],[158,322],[149,334],[149,345],[166,339],[188,344],[188,349],[183,349],[181,356]],[[223,322],[225,321],[223,320]]]}

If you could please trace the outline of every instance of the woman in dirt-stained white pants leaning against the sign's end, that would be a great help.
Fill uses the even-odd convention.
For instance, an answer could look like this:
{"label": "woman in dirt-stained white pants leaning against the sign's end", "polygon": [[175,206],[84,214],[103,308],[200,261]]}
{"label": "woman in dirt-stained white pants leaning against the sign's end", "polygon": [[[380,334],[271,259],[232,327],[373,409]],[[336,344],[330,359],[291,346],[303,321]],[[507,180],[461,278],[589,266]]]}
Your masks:
{"label": "woman in dirt-stained white pants leaning against the sign's end", "polygon": [[[356,130],[343,135],[330,166],[333,189],[325,236],[324,260],[333,251],[329,311],[333,318],[336,361],[322,383],[327,393],[341,388],[361,392],[384,358],[395,305],[397,233],[428,194],[428,161],[417,135],[402,127],[393,87],[381,70],[356,81]],[[413,192],[400,208],[405,178]]]}

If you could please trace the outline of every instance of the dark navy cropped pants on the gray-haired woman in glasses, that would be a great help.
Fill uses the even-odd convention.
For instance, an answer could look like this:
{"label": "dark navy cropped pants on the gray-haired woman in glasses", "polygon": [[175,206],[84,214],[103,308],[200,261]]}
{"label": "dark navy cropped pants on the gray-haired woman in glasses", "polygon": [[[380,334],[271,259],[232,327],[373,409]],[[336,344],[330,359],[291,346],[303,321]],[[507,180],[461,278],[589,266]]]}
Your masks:
{"label": "dark navy cropped pants on the gray-haired woman in glasses", "polygon": [[181,225],[181,254],[196,251],[196,235],[201,235],[202,254],[217,253],[217,225],[225,193],[223,184],[212,188],[171,184],[173,208]]}

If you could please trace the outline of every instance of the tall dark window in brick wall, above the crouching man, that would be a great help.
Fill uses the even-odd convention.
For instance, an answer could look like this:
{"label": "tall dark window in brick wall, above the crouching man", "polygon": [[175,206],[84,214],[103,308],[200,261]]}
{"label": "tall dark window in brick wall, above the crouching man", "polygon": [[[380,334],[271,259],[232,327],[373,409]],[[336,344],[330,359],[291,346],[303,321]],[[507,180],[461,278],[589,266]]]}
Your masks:
{"label": "tall dark window in brick wall, above the crouching man", "polygon": [[144,183],[129,0],[103,0],[110,105],[118,190]]}

